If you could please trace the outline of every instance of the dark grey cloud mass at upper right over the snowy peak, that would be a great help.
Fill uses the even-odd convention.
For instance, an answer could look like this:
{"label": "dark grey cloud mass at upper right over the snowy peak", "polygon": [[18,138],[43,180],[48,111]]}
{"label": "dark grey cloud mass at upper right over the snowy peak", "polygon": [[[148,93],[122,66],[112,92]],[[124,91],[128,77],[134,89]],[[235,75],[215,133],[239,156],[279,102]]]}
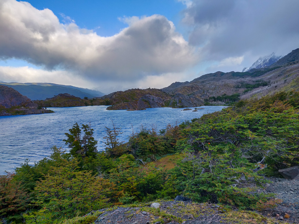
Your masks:
{"label": "dark grey cloud mass at upper right over the snowy peak", "polygon": [[285,55],[299,47],[298,8],[296,0],[194,0],[183,22],[193,27],[189,43],[207,60]]}

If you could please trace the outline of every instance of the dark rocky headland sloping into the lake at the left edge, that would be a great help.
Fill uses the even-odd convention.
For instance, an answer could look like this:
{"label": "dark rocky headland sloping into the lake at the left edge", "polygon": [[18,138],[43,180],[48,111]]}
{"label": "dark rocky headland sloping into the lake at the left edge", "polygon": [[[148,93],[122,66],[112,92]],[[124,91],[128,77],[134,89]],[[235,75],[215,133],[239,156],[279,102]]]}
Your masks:
{"label": "dark rocky headland sloping into the lake at the left edge", "polygon": [[52,113],[13,88],[0,85],[0,116]]}

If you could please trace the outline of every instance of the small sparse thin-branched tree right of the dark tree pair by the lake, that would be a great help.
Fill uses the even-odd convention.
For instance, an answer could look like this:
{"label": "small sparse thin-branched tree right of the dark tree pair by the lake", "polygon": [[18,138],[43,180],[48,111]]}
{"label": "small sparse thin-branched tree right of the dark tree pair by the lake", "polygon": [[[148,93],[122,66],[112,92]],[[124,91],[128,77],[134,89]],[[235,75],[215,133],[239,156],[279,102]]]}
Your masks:
{"label": "small sparse thin-branched tree right of the dark tree pair by the lake", "polygon": [[120,142],[118,139],[119,134],[123,134],[120,132],[121,128],[117,128],[116,125],[114,124],[113,120],[112,122],[112,128],[106,128],[106,136],[104,139],[106,139],[105,144],[107,145],[106,150],[108,151],[109,154],[118,156],[123,154],[123,149],[120,147],[120,145],[123,142]]}

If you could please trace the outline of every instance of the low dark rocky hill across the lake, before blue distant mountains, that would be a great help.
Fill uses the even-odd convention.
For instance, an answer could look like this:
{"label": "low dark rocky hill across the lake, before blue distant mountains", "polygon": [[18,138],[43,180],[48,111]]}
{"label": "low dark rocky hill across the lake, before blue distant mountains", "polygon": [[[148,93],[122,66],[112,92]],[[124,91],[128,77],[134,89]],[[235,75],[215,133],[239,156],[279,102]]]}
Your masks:
{"label": "low dark rocky hill across the lake, before blue distant mountains", "polygon": [[60,93],[45,100],[35,100],[41,107],[82,107],[93,105],[104,105],[103,99],[81,99],[68,93]]}

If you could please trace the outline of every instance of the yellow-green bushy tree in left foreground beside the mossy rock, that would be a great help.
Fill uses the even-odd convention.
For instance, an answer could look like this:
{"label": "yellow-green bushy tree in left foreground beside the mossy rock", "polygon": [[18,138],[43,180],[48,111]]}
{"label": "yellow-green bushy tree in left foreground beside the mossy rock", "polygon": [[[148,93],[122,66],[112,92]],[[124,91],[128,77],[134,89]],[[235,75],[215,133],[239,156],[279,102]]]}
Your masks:
{"label": "yellow-green bushy tree in left foreground beside the mossy rock", "polygon": [[[92,176],[91,171],[80,171],[78,159],[74,158],[62,167],[53,167],[35,188],[35,205],[39,211],[25,215],[26,223],[53,223],[54,220],[82,216],[91,210],[111,205],[115,185],[109,180]],[[114,192],[117,194],[117,191]],[[48,220],[43,220],[47,217]]]}

